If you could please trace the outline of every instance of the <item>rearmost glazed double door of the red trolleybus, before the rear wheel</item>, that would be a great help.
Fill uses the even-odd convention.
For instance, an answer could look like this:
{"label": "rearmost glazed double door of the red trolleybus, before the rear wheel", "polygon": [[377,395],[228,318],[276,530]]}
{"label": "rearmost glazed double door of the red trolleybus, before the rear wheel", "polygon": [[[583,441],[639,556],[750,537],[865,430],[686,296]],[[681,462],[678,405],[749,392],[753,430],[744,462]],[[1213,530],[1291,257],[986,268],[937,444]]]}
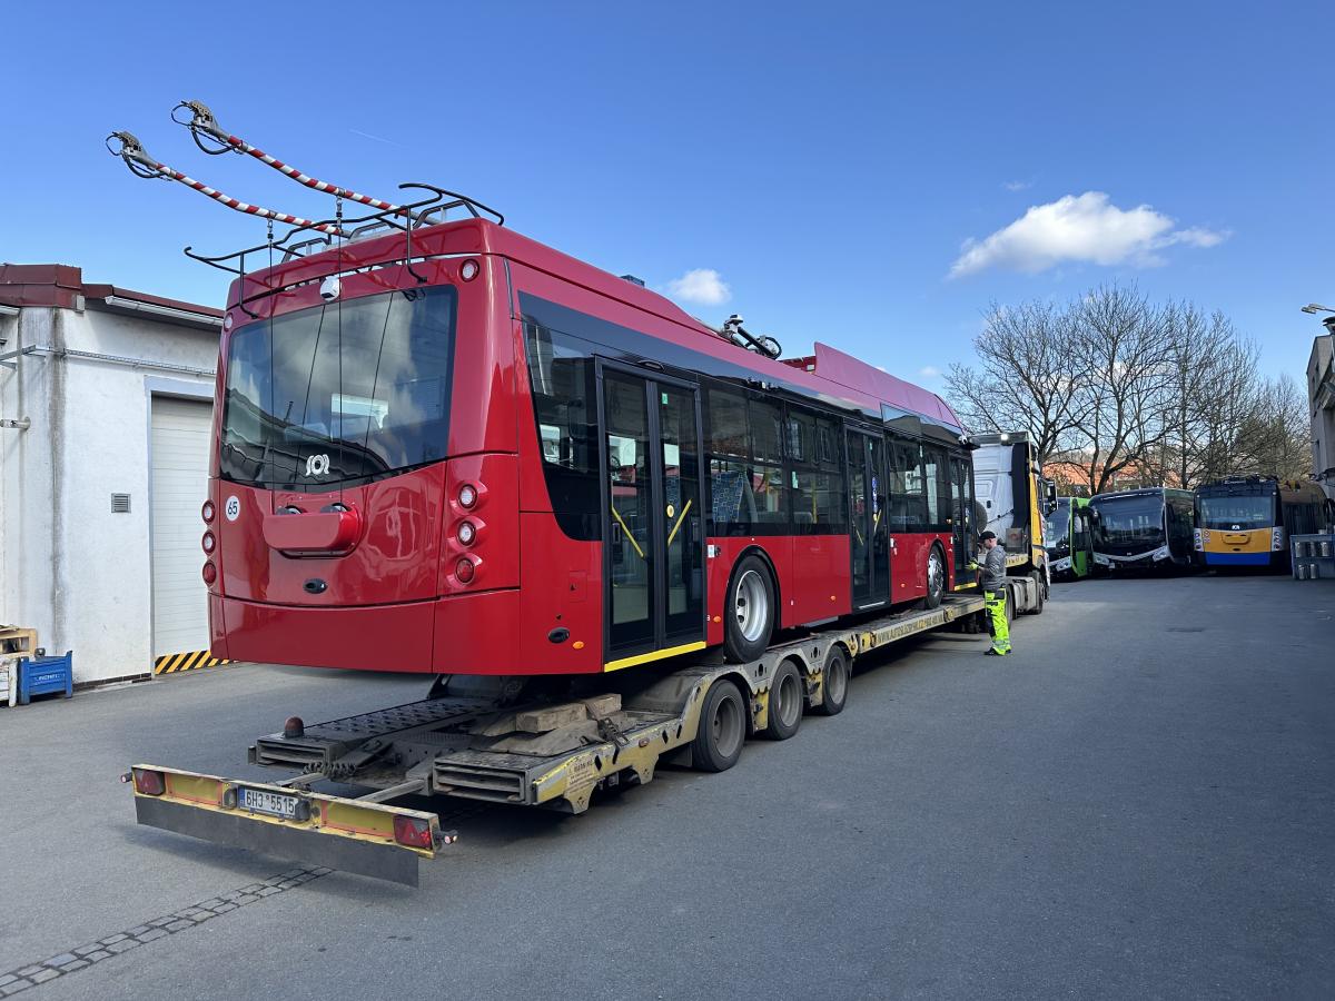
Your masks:
{"label": "rearmost glazed double door of the red trolleybus, before the rear wheel", "polygon": [[606,659],[705,638],[700,391],[599,366]]}

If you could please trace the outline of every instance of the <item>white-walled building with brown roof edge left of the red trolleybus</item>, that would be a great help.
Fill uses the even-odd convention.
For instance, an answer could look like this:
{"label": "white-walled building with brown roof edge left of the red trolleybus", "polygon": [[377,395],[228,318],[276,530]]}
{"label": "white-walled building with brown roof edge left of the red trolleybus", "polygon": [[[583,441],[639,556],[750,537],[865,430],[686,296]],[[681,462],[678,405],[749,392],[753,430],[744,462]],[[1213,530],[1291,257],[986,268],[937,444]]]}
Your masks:
{"label": "white-walled building with brown roof edge left of the red trolleybus", "polygon": [[76,683],[208,662],[220,330],[76,267],[0,266],[0,623],[72,649]]}

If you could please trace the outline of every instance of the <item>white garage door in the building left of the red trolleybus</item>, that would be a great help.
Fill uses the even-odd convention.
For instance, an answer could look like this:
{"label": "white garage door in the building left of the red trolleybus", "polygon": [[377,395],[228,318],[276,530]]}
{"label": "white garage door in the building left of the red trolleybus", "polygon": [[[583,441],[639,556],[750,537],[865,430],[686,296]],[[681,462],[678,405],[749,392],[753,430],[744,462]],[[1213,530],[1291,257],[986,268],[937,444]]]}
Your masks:
{"label": "white garage door in the building left of the red trolleybus", "polygon": [[208,438],[214,407],[198,400],[154,396],[154,661],[171,662],[208,649],[208,593],[199,575],[204,523],[199,507],[208,490]]}

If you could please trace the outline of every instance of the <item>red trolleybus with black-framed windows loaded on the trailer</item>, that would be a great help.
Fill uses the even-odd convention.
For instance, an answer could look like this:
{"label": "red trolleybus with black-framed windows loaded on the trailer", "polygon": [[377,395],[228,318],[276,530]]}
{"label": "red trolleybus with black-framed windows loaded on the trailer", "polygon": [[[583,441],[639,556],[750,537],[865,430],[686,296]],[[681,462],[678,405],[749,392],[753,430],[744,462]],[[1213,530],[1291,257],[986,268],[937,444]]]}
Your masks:
{"label": "red trolleybus with black-framed windows loaded on the trailer", "polygon": [[454,204],[478,218],[240,259],[204,506],[215,655],[746,661],[972,581],[972,466],[939,396],[824,344],[748,350]]}

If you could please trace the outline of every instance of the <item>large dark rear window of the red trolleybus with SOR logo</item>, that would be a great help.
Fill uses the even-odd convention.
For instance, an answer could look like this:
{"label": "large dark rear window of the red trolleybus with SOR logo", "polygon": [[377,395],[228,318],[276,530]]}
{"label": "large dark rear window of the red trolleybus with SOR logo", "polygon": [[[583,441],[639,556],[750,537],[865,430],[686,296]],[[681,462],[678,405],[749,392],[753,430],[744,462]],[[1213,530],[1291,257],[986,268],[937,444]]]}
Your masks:
{"label": "large dark rear window of the red trolleybus with SOR logo", "polygon": [[334,302],[231,335],[220,471],[319,492],[445,458],[455,292]]}

